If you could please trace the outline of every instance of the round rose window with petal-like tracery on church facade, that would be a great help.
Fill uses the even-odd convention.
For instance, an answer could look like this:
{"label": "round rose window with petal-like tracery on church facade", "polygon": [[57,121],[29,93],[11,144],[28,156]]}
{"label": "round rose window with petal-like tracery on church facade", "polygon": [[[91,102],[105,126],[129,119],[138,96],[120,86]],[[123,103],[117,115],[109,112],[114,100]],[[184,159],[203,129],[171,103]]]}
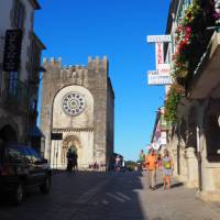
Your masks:
{"label": "round rose window with petal-like tracery on church facade", "polygon": [[63,110],[72,117],[80,114],[86,107],[86,101],[82,95],[78,92],[69,92],[63,98]]}

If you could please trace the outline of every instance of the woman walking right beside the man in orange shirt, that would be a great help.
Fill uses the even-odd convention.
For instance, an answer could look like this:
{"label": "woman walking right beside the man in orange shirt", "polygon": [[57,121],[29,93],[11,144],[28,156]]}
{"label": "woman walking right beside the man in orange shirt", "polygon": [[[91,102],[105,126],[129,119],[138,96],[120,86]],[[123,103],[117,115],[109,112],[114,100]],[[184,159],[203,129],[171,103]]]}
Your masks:
{"label": "woman walking right beside the man in orange shirt", "polygon": [[164,156],[163,156],[163,183],[164,183],[164,189],[170,188],[170,178],[173,175],[173,160],[169,156],[168,150],[164,150]]}

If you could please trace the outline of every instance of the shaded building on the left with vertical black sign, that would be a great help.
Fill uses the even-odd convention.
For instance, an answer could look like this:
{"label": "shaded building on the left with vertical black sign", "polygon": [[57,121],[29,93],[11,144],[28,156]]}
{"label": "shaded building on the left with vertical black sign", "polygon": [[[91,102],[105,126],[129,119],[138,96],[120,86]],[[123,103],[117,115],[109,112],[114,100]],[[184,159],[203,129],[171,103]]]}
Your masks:
{"label": "shaded building on the left with vertical black sign", "polygon": [[45,48],[33,31],[38,9],[36,0],[0,2],[0,140],[4,143],[36,141],[38,75]]}

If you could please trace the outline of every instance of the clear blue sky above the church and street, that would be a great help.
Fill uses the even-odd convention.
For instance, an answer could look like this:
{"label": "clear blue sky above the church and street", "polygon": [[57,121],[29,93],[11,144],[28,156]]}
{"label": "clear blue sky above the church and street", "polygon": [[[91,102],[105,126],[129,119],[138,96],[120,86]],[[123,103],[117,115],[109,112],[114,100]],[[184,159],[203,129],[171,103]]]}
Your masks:
{"label": "clear blue sky above the church and street", "polygon": [[116,94],[114,151],[136,161],[150,143],[164,87],[147,86],[155,69],[146,35],[164,34],[169,0],[40,0],[34,30],[63,65],[87,65],[107,55]]}

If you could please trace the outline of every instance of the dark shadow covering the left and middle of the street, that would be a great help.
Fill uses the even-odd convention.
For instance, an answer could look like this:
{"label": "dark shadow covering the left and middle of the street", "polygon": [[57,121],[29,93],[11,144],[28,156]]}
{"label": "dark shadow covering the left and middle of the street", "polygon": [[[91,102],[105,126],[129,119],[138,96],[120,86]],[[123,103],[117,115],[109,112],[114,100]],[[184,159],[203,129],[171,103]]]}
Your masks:
{"label": "dark shadow covering the left and middle of the street", "polygon": [[58,172],[48,195],[33,189],[18,207],[3,200],[0,219],[146,220],[140,198],[142,177],[141,172]]}

